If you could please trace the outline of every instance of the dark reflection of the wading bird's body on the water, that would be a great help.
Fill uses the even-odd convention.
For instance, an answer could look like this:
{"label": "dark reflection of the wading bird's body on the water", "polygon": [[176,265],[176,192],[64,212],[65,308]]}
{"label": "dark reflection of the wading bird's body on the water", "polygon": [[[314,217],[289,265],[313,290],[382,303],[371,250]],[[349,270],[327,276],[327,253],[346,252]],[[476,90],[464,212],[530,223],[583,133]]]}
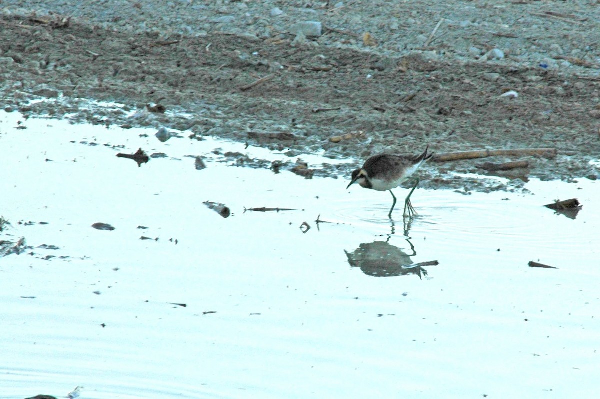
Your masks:
{"label": "dark reflection of the wading bird's body on the water", "polygon": [[[410,241],[409,241],[410,244]],[[416,255],[415,247],[410,244],[412,255],[404,253],[400,248],[384,241],[365,242],[353,252],[346,252],[350,266],[361,268],[364,274],[373,277],[395,277],[400,275],[415,274],[419,278],[427,277],[427,271],[422,263],[415,263],[410,259]],[[437,265],[437,262],[427,262],[428,265]]]}

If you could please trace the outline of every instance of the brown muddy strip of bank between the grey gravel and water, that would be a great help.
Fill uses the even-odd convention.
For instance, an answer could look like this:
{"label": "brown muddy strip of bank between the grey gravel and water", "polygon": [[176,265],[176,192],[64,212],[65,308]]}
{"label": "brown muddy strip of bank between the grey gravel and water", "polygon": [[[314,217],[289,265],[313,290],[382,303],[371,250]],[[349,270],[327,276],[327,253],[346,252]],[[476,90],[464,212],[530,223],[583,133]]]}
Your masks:
{"label": "brown muddy strip of bank between the grey gravel and water", "polygon": [[[554,68],[497,52],[440,56],[443,41],[404,53],[384,51],[368,37],[335,45],[348,36],[336,31],[304,40],[217,29],[196,36],[19,13],[5,13],[0,23],[0,106],[27,116],[190,130],[191,139],[287,148],[292,157],[324,149],[326,157],[356,164],[427,144],[437,153],[556,148],[556,157],[527,158],[527,169],[489,173],[568,181],[599,174],[590,165],[600,154],[593,57]],[[517,95],[503,96],[509,91]],[[358,131],[364,134],[330,140]],[[476,180],[449,177],[482,173],[480,163],[430,163],[422,185],[481,189]],[[325,175],[351,169],[331,167]]]}

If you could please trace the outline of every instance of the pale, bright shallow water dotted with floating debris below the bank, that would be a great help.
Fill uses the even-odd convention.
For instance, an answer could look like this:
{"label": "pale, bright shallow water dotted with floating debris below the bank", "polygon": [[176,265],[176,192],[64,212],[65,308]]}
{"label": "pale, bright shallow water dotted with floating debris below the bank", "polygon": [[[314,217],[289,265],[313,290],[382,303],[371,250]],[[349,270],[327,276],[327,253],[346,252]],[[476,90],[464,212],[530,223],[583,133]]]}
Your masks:
{"label": "pale, bright shallow water dotted with floating debris below the bank", "polygon": [[[0,114],[0,215],[11,223],[0,239],[33,247],[0,258],[0,398],[76,386],[81,398],[595,394],[596,182],[418,189],[419,217],[405,226],[407,190],[395,190],[391,222],[389,193],[233,167],[211,151],[286,157],[154,133]],[[168,157],[137,167],[115,156],[140,147]],[[575,220],[542,207],[574,197]],[[263,206],[295,210],[244,212]],[[332,223],[317,226],[319,215]],[[373,251],[396,277],[350,265],[348,254],[365,265]]]}

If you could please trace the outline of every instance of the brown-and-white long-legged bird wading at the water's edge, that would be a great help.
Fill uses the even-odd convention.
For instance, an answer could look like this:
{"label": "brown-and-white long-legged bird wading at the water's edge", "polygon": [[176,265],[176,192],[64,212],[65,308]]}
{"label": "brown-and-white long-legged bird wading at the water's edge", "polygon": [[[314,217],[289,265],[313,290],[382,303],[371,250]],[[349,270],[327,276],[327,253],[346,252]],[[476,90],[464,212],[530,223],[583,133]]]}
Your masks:
{"label": "brown-and-white long-legged bird wading at the water's edge", "polygon": [[[394,197],[394,203],[392,209],[389,210],[388,217],[392,218],[392,211],[396,206],[396,196],[392,193],[392,188],[398,187],[403,181],[408,179],[419,169],[422,163],[429,158],[433,157],[433,154],[427,154],[429,146],[425,148],[425,152],[416,157],[403,157],[401,155],[389,155],[380,154],[371,157],[365,162],[361,169],[356,169],[352,172],[352,181],[346,187],[346,190],[351,185],[358,183],[361,187],[370,188],[371,190],[377,191],[388,191]],[[410,203],[410,196],[415,191],[416,186],[419,185],[419,179],[416,179],[415,185],[410,190],[409,195],[406,197],[404,202],[404,216],[415,215],[416,211]]]}

